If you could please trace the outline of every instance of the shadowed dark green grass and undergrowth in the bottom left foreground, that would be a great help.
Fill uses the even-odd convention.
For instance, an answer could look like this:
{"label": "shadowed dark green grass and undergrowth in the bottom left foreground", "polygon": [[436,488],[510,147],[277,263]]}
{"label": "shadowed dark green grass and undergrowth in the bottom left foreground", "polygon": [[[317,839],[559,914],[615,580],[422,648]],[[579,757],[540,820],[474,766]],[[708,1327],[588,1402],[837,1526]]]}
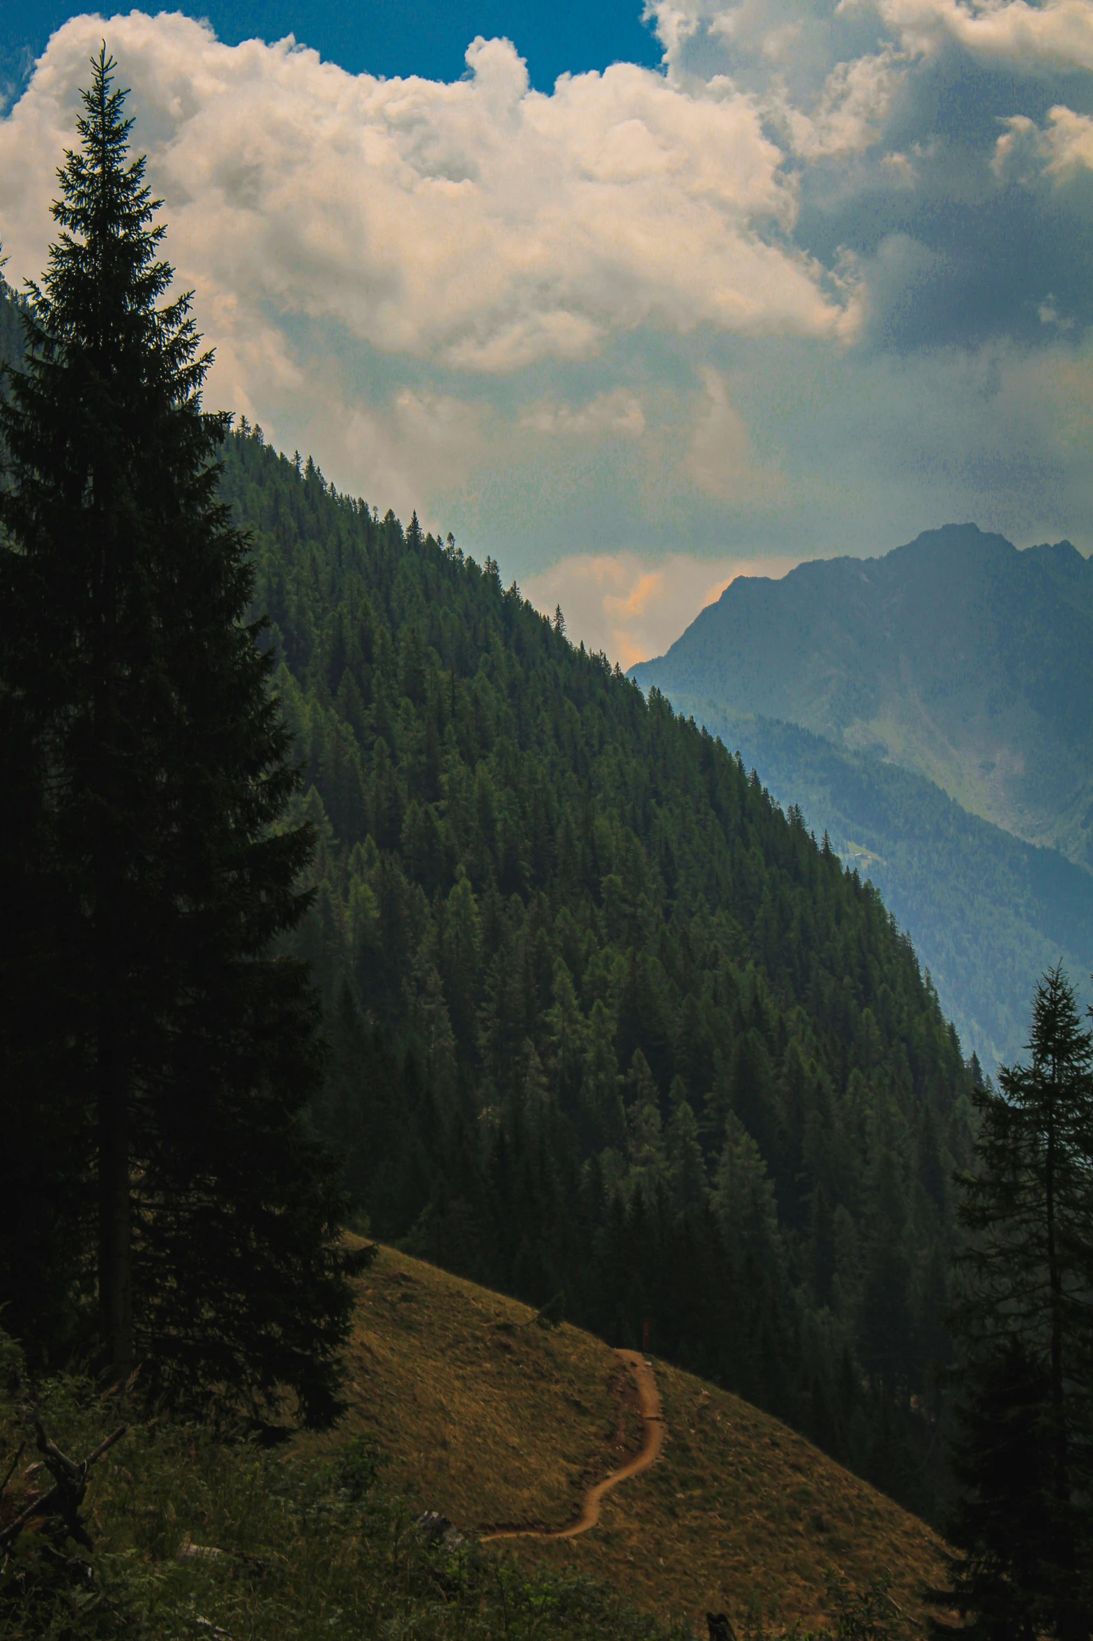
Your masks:
{"label": "shadowed dark green grass and undergrowth in the bottom left foreground", "polygon": [[[8,1398],[7,1456],[29,1434],[23,1411]],[[74,1382],[46,1387],[38,1411],[69,1454],[92,1447],[113,1418]],[[0,1575],[0,1636],[669,1641],[665,1626],[587,1577],[528,1574],[474,1543],[429,1544],[413,1503],[380,1477],[359,1441],[320,1459],[136,1424],[92,1472],[92,1585],[43,1570],[43,1534],[26,1531]],[[3,1520],[33,1482],[20,1469]]]}

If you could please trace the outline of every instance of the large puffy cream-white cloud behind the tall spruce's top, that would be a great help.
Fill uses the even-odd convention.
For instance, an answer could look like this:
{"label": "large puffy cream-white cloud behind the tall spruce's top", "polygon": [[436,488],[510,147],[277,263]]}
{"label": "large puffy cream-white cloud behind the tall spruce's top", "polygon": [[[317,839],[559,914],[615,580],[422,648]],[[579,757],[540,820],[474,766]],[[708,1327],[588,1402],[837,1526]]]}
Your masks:
{"label": "large puffy cream-white cloud behind the tall spruce's top", "polygon": [[41,266],[75,89],[103,34],[133,87],[170,254],[226,327],[221,345],[259,315],[298,313],[492,374],[588,358],[642,325],[836,335],[846,322],[819,269],[762,226],[791,226],[796,194],[747,97],[690,95],[633,64],[544,97],[503,39],[477,39],[452,85],[375,80],[292,41],[229,48],[139,11],[66,23],[0,121],[0,220],[23,272]]}

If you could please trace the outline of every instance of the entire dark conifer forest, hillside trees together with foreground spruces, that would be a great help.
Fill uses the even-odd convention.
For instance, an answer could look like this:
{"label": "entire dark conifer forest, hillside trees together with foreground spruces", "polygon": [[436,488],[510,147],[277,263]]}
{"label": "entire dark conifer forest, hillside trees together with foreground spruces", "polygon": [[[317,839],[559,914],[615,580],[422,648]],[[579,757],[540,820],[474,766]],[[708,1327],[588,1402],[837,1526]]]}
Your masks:
{"label": "entire dark conifer forest, hillside trees together with foreground spruces", "polygon": [[[203,409],[121,84],[103,46],[48,267],[0,302],[8,1390],[328,1429],[388,1244],[927,1518],[937,1628],[1082,1641],[1068,976],[990,1080],[878,889],[739,755],[493,556]],[[49,1605],[64,1520],[16,1566],[0,1510],[0,1634],[84,1633]]]}

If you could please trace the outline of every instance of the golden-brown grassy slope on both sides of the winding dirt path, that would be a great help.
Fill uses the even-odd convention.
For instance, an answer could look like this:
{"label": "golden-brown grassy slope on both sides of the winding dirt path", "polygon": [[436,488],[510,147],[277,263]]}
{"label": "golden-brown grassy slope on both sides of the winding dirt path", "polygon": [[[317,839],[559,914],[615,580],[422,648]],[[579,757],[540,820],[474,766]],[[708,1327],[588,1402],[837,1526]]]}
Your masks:
{"label": "golden-brown grassy slope on both sides of the winding dirt path", "polygon": [[[390,1480],[460,1528],[572,1521],[618,1459],[615,1354],[390,1249],[361,1287],[351,1408],[320,1446],[372,1433]],[[664,1457],[606,1497],[592,1533],[497,1554],[606,1579],[665,1618],[742,1620],[762,1603],[778,1625],[823,1618],[828,1567],[860,1587],[888,1569],[900,1607],[921,1616],[918,1592],[941,1575],[921,1521],[737,1396],[664,1364],[657,1380]]]}

